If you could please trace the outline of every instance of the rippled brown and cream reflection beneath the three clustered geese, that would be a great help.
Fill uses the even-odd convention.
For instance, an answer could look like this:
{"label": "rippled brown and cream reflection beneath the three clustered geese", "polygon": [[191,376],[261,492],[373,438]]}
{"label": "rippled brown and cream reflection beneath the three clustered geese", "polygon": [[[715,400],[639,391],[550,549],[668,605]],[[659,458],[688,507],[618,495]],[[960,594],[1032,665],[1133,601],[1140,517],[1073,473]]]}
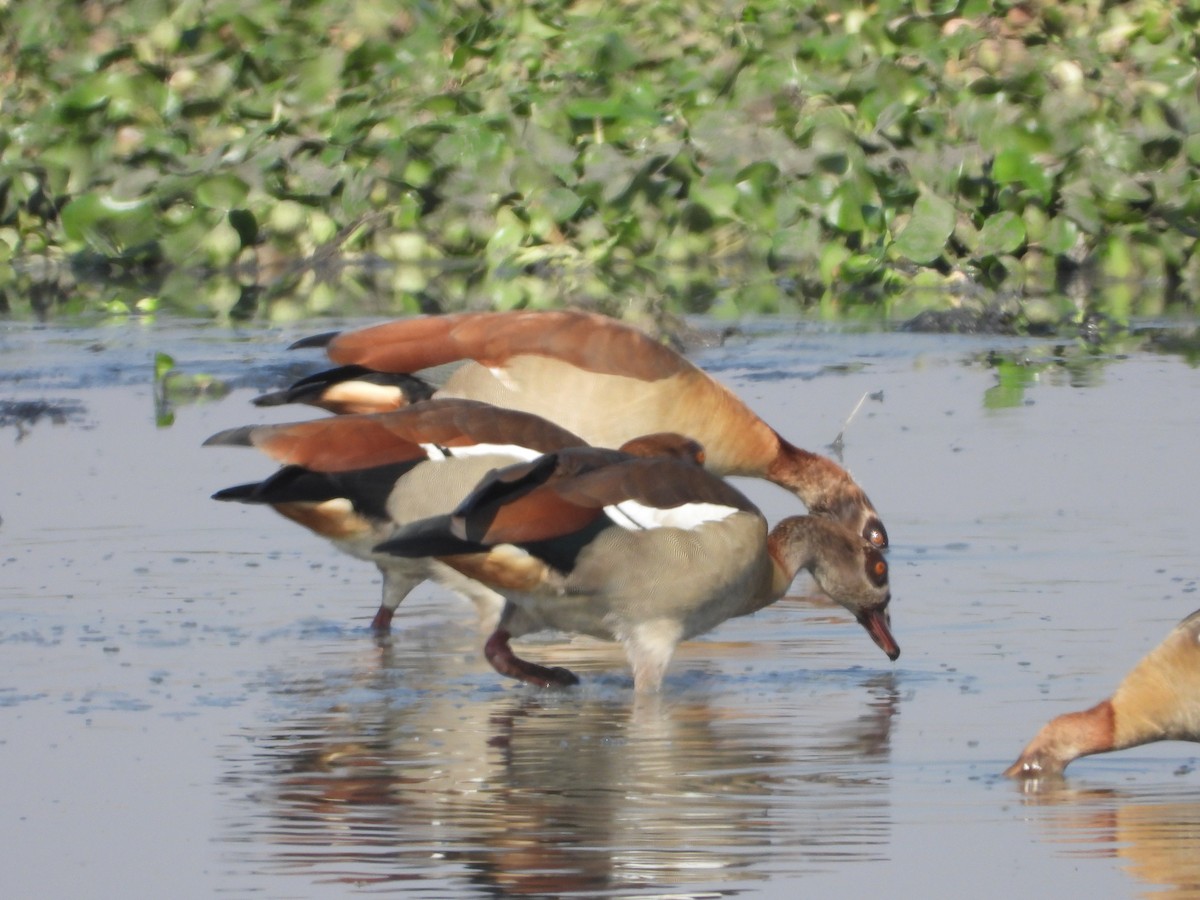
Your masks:
{"label": "rippled brown and cream reflection beneath the three clustered geese", "polygon": [[[601,673],[617,667],[611,647],[574,644],[576,664],[581,649]],[[602,674],[590,692],[481,695],[430,671],[450,654],[379,653],[341,684],[281,685],[320,712],[230,761],[227,785],[251,804],[234,828],[240,852],[271,847],[256,868],[434,892],[727,890],[878,859],[889,840],[892,673],[751,676],[742,690],[779,700],[746,713],[737,691],[710,695],[703,673],[665,697],[631,698]]]}

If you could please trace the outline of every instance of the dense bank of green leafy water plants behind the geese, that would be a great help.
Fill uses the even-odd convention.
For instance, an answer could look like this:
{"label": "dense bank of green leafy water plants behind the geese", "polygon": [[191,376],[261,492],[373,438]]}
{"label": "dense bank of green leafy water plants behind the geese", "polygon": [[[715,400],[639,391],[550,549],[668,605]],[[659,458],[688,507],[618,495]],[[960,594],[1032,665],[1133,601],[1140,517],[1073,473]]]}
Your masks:
{"label": "dense bank of green leafy water plants behind the geese", "polygon": [[1115,284],[1090,295],[1153,312],[1200,294],[1198,25],[1200,0],[0,0],[0,302],[1054,318]]}

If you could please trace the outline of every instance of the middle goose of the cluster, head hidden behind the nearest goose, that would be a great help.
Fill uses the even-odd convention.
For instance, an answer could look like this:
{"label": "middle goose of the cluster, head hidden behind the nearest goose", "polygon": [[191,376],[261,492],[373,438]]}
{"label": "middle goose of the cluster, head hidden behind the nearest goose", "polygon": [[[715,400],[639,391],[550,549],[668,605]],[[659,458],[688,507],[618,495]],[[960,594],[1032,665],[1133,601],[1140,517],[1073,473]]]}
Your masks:
{"label": "middle goose of the cluster, head hidden behind the nearest goose", "polygon": [[[377,544],[406,522],[452,510],[492,469],[583,442],[535,415],[448,398],[394,413],[230,428],[205,444],[257,446],[283,463],[266,480],[228,487],[214,499],[270,505],[350,556],[373,562],[383,576],[383,599],[371,625],[386,631],[396,607],[430,578],[470,600],[485,625],[503,599],[437,560],[376,553]],[[692,460],[702,454],[678,436],[643,437],[629,448]]]}

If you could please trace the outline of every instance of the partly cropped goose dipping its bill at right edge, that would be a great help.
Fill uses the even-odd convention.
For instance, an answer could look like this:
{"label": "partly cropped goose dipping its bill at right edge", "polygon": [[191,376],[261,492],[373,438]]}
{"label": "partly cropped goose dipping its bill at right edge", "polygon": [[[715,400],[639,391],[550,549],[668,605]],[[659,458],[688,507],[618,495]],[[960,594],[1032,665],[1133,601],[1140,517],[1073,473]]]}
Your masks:
{"label": "partly cropped goose dipping its bill at right edge", "polygon": [[1054,778],[1080,756],[1154,740],[1200,740],[1200,610],[1146,654],[1111,697],[1051,719],[1004,775]]}

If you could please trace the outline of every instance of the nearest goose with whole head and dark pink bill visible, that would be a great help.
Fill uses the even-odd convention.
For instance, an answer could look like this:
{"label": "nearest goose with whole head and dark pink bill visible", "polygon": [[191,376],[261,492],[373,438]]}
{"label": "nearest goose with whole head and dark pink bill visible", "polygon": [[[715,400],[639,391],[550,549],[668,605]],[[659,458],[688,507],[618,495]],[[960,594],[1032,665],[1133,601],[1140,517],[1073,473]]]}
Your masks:
{"label": "nearest goose with whole head and dark pink bill visible", "polygon": [[576,684],[520,659],[512,637],[559,629],[619,641],[637,691],[656,691],[676,646],[779,600],[808,569],[889,659],[888,566],[828,518],[768,534],[740,492],[695,464],[576,448],[486,478],[450,515],[414,522],[378,551],[434,556],[506,599],[484,653],[504,676]]}

